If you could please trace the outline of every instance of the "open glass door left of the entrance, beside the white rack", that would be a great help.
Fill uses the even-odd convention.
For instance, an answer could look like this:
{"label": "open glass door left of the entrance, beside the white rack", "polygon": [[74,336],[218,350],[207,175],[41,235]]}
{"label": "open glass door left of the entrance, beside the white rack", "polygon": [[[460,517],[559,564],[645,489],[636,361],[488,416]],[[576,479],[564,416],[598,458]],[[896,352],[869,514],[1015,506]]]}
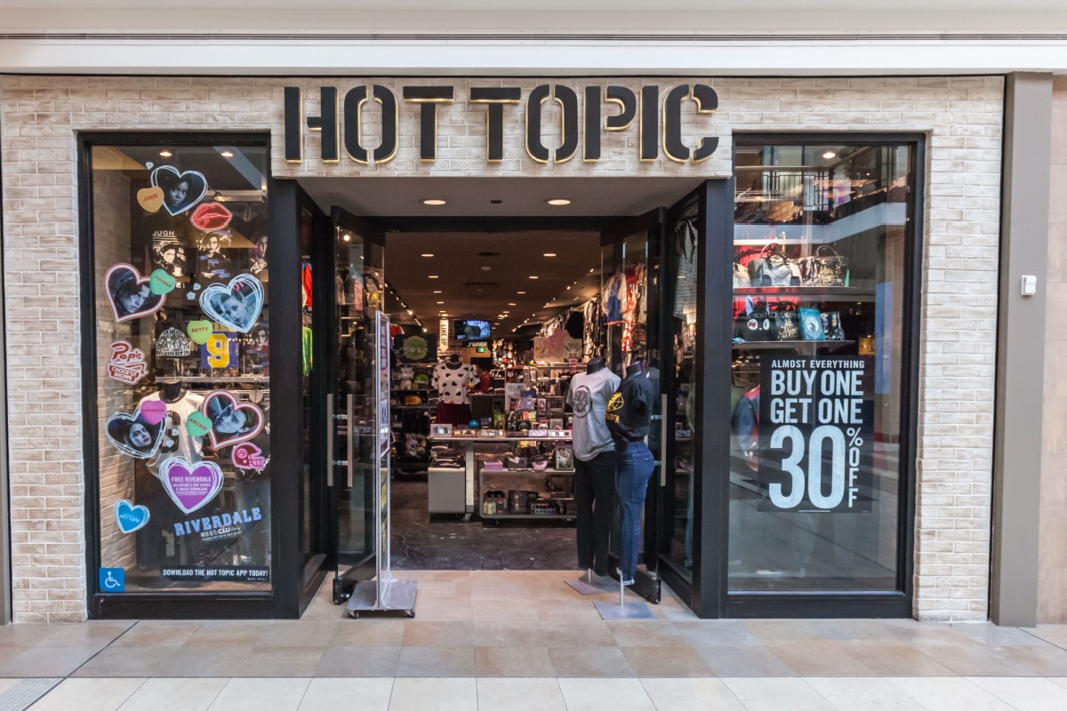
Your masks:
{"label": "open glass door left of the entrance, beside the white rack", "polygon": [[[376,572],[376,422],[379,355],[375,320],[385,286],[384,235],[334,208],[323,351],[327,369],[327,465],[333,599],[348,599],[355,583]],[[322,255],[327,257],[325,254]],[[387,338],[387,335],[386,335]],[[386,350],[387,352],[387,350]]]}

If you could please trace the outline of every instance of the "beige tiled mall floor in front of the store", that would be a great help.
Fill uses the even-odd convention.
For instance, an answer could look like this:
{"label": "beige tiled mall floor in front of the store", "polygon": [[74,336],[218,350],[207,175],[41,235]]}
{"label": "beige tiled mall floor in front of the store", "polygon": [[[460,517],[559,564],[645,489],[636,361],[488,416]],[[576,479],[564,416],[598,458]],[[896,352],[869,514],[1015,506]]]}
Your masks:
{"label": "beige tiled mall floor in front of the store", "polygon": [[605,621],[576,575],[398,573],[415,619],[349,619],[325,585],[300,620],[0,627],[0,711],[1067,709],[1067,626],[700,620],[670,597]]}

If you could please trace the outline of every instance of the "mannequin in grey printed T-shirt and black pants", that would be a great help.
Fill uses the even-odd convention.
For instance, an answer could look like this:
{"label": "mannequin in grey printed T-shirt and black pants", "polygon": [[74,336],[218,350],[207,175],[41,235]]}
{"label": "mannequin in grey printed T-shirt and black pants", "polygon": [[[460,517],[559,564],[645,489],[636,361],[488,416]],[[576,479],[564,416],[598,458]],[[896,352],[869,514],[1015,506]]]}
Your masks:
{"label": "mannequin in grey printed T-shirt and black pants", "polygon": [[600,582],[608,572],[608,542],[615,513],[616,452],[605,415],[608,400],[619,387],[619,376],[595,356],[586,372],[576,373],[567,390],[574,411],[574,499],[577,504],[578,567],[588,571],[586,582]]}

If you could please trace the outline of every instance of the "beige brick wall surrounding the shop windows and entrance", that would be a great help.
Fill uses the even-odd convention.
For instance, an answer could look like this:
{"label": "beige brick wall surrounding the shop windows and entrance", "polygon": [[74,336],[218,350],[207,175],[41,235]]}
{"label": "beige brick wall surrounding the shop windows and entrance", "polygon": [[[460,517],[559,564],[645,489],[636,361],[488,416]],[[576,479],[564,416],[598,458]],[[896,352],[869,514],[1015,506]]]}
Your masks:
{"label": "beige brick wall surrounding the shop windows and entrance", "polygon": [[[463,111],[465,80],[442,110],[437,161],[421,163],[416,109],[401,103],[394,161],[359,166],[347,157],[323,165],[308,134],[300,166],[282,153],[282,94],[301,85],[317,115],[320,82],[278,79],[49,78],[0,79],[3,211],[7,286],[9,404],[13,475],[16,619],[80,619],[84,604],[78,386],[77,199],[75,132],[79,130],[264,130],[274,132],[278,177],[309,175],[622,176],[729,175],[733,131],[920,131],[929,136],[925,166],[924,319],[921,338],[915,611],[924,619],[985,619],[993,410],[1000,151],[1003,80],[983,78],[724,79],[711,122],[719,149],[692,165],[641,163],[637,133],[608,133],[605,160],[580,156],[561,165],[530,160],[521,114],[505,135],[505,160],[484,163],[484,109]],[[490,85],[499,80],[477,80]],[[637,88],[641,80],[615,83]],[[334,82],[341,90],[354,85]],[[370,82],[368,82],[370,83]],[[381,80],[394,88],[415,83]],[[426,83],[419,81],[418,83]],[[503,82],[501,82],[503,83]],[[537,82],[507,80],[525,92]],[[586,81],[566,80],[579,88]],[[662,87],[675,83],[657,79]],[[546,103],[546,126],[555,109]],[[506,115],[517,112],[509,107]],[[368,117],[371,114],[368,114]],[[688,144],[705,132],[689,111]],[[510,119],[509,119],[510,120]],[[372,122],[371,122],[372,123]],[[700,129],[700,130],[698,130]],[[367,143],[372,141],[367,134]],[[546,135],[545,143],[554,145]],[[59,418],[60,435],[45,433]],[[48,437],[47,448],[42,438]]]}

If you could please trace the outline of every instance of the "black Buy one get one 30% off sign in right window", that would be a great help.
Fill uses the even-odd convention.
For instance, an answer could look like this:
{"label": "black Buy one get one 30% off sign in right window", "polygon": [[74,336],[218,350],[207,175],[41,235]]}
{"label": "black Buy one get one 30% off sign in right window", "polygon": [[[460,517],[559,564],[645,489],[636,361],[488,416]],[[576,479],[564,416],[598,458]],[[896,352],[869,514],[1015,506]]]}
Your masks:
{"label": "black Buy one get one 30% off sign in right window", "polygon": [[872,360],[764,358],[760,511],[870,513],[874,464]]}

